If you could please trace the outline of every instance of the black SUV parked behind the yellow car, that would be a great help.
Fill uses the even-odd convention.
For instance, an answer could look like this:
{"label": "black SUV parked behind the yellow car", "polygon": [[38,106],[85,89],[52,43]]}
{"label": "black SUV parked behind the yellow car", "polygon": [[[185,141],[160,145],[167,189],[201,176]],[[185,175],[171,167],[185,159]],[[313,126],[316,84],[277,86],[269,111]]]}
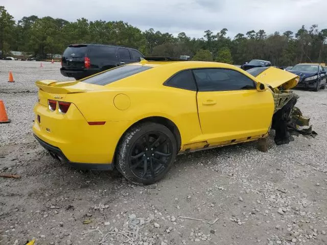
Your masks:
{"label": "black SUV parked behind the yellow car", "polygon": [[134,48],[102,45],[68,45],[61,58],[60,72],[76,80],[94,75],[115,66],[138,62],[144,56]]}

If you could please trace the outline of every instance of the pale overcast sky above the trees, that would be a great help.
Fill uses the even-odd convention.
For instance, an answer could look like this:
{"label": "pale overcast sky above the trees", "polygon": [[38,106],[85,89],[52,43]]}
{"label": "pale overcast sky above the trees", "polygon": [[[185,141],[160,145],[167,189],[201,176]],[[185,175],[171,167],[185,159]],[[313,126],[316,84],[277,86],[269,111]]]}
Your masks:
{"label": "pale overcast sky above the trees", "polygon": [[202,37],[205,30],[227,35],[264,29],[296,32],[302,24],[327,28],[327,0],[1,0],[16,20],[51,16],[75,21],[123,20],[141,30]]}

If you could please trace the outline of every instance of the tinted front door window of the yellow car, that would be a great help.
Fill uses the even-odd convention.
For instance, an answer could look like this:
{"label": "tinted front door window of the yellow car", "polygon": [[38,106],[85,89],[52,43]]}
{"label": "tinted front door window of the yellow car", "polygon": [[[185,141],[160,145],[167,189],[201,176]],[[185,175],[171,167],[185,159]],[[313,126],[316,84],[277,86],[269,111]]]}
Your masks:
{"label": "tinted front door window of the yellow car", "polygon": [[199,91],[255,89],[253,80],[231,69],[209,68],[193,70]]}

